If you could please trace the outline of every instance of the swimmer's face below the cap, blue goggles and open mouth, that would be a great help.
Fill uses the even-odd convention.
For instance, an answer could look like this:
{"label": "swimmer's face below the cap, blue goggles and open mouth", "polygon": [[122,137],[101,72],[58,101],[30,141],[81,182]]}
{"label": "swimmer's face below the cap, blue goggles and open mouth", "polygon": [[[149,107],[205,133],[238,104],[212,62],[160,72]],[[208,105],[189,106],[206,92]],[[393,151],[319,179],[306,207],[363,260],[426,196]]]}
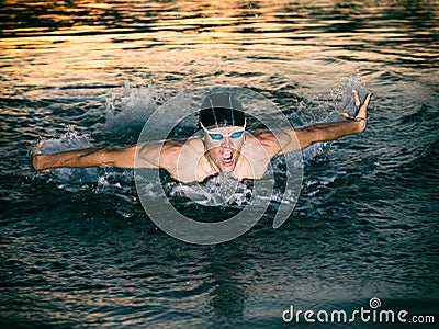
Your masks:
{"label": "swimmer's face below the cap, blue goggles and open mouth", "polygon": [[207,155],[221,171],[233,171],[244,146],[245,131],[240,126],[204,128]]}

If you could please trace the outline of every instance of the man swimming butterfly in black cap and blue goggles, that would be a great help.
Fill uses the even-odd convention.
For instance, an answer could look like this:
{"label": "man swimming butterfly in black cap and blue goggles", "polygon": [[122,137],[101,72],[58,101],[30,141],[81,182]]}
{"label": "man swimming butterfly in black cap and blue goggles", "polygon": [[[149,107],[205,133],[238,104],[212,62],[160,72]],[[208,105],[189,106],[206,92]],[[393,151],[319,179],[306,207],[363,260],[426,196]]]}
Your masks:
{"label": "man swimming butterfly in black cap and blue goggles", "polygon": [[33,166],[36,170],[61,167],[162,168],[173,179],[184,183],[202,182],[218,173],[228,173],[237,180],[260,179],[275,156],[364,131],[372,94],[369,93],[363,103],[358,92],[354,91],[353,95],[356,114],[340,113],[347,118],[344,122],[250,133],[246,131],[243,106],[233,94],[211,94],[205,98],[200,111],[202,137],[121,148],[91,147],[52,155],[43,155],[43,143],[40,143],[33,150]]}

